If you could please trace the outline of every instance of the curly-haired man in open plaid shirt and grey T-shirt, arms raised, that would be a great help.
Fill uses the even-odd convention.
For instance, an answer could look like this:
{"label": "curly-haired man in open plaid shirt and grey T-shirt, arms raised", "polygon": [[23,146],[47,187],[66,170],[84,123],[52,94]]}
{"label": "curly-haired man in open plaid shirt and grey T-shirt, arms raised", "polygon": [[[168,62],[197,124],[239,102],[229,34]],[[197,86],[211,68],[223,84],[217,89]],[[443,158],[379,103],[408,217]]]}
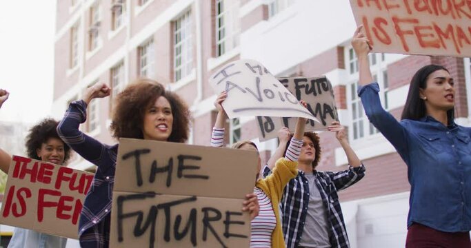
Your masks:
{"label": "curly-haired man in open plaid shirt and grey T-shirt, arms raised", "polygon": [[[348,144],[344,127],[334,121],[328,130],[336,132],[350,168],[341,172],[317,171],[321,159],[319,136],[314,132],[304,133],[299,173],[286,185],[281,200],[286,247],[350,247],[337,191],[361,180],[365,167]],[[279,149],[282,146],[280,142]],[[263,176],[274,173],[274,161],[282,154],[279,149],[263,168]],[[285,148],[285,154],[289,153],[290,149]]]}

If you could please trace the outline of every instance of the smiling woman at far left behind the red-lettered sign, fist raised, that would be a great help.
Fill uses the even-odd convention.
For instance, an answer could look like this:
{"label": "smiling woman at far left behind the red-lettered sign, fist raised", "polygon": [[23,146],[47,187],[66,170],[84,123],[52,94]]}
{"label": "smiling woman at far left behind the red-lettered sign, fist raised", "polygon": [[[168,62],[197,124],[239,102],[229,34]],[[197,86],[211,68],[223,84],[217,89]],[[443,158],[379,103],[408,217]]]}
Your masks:
{"label": "smiling woman at far left behind the red-lettered sign, fist raised", "polygon": [[[9,93],[0,89],[0,107],[8,99]],[[46,118],[30,128],[26,137],[26,153],[29,158],[46,161],[56,165],[64,165],[70,158],[68,147],[59,135],[56,127],[59,122]],[[8,174],[12,157],[0,148],[0,169]],[[30,229],[16,227],[8,247],[66,247],[67,238],[43,234]]]}

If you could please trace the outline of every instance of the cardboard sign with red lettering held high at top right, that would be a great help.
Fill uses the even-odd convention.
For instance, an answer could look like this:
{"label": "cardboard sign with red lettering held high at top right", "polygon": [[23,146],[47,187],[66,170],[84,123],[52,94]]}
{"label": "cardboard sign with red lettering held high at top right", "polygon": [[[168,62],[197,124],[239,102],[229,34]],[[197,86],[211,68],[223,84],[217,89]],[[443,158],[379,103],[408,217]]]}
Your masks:
{"label": "cardboard sign with red lettering held high at top right", "polygon": [[350,0],[373,52],[471,56],[471,1]]}

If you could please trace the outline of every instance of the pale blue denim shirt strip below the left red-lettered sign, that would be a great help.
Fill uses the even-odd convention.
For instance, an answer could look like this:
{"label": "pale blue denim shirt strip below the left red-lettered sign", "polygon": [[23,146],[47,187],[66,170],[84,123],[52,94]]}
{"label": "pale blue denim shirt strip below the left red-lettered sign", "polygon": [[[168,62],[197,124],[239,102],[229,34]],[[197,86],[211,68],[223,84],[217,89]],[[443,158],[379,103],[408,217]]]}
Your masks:
{"label": "pale blue denim shirt strip below the left red-lettered sign", "polygon": [[30,229],[15,228],[8,248],[65,248],[67,238],[43,234]]}

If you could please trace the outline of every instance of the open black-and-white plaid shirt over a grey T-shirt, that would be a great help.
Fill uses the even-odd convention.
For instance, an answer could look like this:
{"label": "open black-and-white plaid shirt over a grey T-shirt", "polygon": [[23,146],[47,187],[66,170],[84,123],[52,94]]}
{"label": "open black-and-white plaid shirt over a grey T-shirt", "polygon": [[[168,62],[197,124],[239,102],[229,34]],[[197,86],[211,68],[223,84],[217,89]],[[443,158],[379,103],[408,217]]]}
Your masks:
{"label": "open black-and-white plaid shirt over a grey T-shirt", "polygon": [[[263,176],[268,176],[271,170],[268,166],[263,168]],[[342,172],[317,172],[316,185],[321,193],[323,205],[328,209],[328,223],[330,223],[330,245],[332,247],[348,248],[347,229],[343,221],[337,191],[350,187],[365,176],[365,167],[350,167]],[[304,172],[299,171],[298,176],[286,185],[281,211],[283,213],[283,234],[286,247],[298,247],[303,234],[305,216],[308,212],[309,183]]]}

